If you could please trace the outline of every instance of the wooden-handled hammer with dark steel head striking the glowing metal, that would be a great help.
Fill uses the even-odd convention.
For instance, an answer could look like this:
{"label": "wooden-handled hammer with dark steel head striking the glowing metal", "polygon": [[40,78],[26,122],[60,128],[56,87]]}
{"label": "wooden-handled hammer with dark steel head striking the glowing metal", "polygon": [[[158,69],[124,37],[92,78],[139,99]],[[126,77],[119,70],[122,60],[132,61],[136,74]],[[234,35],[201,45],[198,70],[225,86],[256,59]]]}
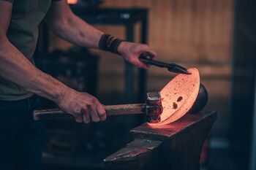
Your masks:
{"label": "wooden-handled hammer with dark steel head striking the glowing metal", "polygon": [[[162,102],[159,92],[147,93],[146,104],[119,104],[105,106],[107,116],[146,114],[148,123],[159,123],[162,114]],[[53,120],[59,118],[73,118],[61,109],[34,110],[34,120]]]}

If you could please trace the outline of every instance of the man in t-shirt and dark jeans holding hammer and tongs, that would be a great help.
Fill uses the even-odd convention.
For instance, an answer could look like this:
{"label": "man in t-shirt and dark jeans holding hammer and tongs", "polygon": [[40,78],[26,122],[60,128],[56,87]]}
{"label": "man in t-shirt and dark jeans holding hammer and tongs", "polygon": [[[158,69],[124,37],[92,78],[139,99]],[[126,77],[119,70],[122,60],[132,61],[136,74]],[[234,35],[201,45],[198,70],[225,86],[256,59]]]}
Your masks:
{"label": "man in t-shirt and dark jeans holding hammer and tongs", "polygon": [[81,47],[120,54],[147,69],[140,53],[156,55],[147,45],[104,34],[74,15],[67,0],[0,0],[0,169],[42,169],[42,125],[32,119],[37,96],[48,98],[83,123],[106,119],[94,96],[73,90],[34,66],[38,26],[45,20],[53,33]]}

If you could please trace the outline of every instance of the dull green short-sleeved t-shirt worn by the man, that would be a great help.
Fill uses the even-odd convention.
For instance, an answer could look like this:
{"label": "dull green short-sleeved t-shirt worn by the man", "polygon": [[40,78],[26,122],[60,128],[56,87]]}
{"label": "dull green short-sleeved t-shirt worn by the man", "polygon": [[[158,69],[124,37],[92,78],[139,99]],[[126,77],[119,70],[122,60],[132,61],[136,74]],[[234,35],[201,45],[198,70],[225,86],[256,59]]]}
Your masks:
{"label": "dull green short-sleeved t-shirt worn by the man", "polygon": [[[42,22],[54,0],[0,1],[12,3],[12,18],[7,31],[8,39],[31,63],[34,63],[33,55],[37,45],[39,23]],[[0,100],[15,101],[32,95],[19,85],[0,77]]]}

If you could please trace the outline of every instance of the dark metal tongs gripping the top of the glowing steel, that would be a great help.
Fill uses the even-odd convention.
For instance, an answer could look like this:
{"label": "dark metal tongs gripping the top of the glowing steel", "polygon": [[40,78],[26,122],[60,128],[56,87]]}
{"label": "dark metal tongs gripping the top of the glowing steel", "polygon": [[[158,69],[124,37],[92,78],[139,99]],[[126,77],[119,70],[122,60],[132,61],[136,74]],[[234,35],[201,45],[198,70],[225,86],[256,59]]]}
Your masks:
{"label": "dark metal tongs gripping the top of the glowing steel", "polygon": [[162,67],[162,68],[167,68],[169,70],[169,72],[181,73],[181,74],[191,74],[183,66],[179,66],[176,63],[164,63],[162,61],[155,61],[152,59],[152,57],[153,56],[151,53],[141,53],[139,59],[140,59],[140,61],[142,61],[143,63],[146,63],[146,64],[150,64],[150,65],[158,66],[158,67]]}

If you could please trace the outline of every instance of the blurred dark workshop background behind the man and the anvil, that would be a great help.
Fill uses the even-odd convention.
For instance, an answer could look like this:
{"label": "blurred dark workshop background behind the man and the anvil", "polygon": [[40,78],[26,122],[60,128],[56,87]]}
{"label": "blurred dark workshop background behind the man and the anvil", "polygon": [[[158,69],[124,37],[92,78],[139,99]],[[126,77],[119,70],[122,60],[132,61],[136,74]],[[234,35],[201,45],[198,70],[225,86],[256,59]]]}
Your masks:
{"label": "blurred dark workshop background behind the man and the anvil", "polygon": [[[148,44],[160,61],[196,67],[208,90],[206,109],[218,112],[203,148],[202,169],[256,169],[254,0],[78,0],[73,12],[91,25],[128,41]],[[74,47],[42,24],[37,66],[103,104],[145,101],[175,75],[132,68],[112,53]],[[53,62],[54,61],[54,62]],[[45,108],[53,108],[43,101]],[[109,117],[81,125],[47,122],[45,169],[105,169],[103,158],[129,142],[141,116]]]}

